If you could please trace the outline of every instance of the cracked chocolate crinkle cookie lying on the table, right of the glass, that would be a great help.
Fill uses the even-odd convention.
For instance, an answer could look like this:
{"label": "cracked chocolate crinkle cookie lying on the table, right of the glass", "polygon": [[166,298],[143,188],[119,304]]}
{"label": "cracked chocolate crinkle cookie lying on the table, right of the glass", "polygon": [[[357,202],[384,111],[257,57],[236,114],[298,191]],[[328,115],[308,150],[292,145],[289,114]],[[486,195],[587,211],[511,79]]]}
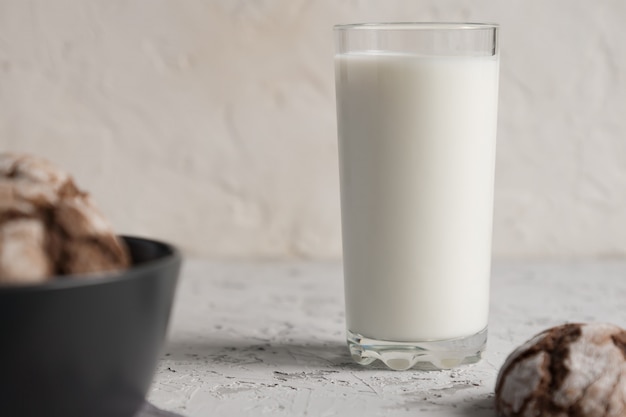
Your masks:
{"label": "cracked chocolate crinkle cookie lying on the table, right of the glass", "polygon": [[516,349],[496,383],[499,416],[626,416],[626,331],[565,324]]}

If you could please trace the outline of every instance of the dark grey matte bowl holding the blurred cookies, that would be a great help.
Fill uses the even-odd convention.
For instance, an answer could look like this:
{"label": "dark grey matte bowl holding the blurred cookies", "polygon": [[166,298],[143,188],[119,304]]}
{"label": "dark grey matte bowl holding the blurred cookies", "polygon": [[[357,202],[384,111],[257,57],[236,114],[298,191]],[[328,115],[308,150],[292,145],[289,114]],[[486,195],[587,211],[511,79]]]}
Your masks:
{"label": "dark grey matte bowl holding the blurred cookies", "polygon": [[131,417],[165,338],[182,258],[124,237],[125,271],[0,287],[0,416]]}

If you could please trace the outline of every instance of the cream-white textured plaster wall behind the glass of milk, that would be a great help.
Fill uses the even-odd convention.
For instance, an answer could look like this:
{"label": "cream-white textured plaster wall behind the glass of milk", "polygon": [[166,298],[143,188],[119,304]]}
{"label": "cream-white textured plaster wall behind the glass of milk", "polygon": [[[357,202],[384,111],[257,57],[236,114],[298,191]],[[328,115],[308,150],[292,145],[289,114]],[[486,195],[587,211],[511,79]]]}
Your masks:
{"label": "cream-white textured plaster wall behind the glass of milk", "polygon": [[502,25],[496,255],[626,256],[623,0],[0,0],[0,147],[125,233],[337,257],[331,26],[389,20]]}

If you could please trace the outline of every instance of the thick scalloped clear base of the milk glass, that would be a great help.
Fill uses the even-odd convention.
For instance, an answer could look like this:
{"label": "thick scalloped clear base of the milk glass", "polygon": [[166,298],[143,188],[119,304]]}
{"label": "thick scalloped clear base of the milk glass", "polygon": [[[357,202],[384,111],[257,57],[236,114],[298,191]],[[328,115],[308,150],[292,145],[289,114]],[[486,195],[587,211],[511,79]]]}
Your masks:
{"label": "thick scalloped clear base of the milk glass", "polygon": [[487,328],[471,336],[429,342],[375,340],[348,330],[348,348],[359,365],[376,360],[395,371],[451,369],[476,363],[487,346]]}

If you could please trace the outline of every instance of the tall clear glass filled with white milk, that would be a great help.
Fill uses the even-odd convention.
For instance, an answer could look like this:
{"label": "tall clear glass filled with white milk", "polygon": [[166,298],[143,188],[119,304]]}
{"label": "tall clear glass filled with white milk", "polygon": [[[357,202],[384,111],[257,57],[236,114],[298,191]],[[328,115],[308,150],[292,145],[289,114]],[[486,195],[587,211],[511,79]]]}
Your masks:
{"label": "tall clear glass filled with white milk", "polygon": [[353,359],[446,369],[487,341],[498,26],[335,26]]}

